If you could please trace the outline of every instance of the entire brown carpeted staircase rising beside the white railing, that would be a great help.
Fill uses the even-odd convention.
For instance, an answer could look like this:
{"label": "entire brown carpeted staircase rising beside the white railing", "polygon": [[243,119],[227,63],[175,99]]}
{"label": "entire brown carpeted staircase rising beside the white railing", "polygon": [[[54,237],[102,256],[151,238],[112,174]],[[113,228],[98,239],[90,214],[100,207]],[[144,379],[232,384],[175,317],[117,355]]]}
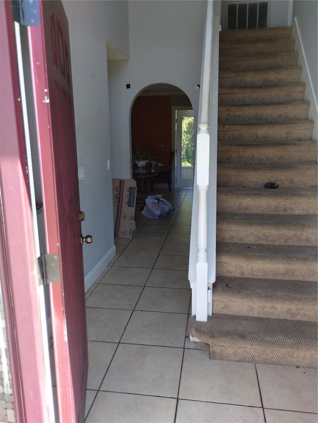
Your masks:
{"label": "entire brown carpeted staircase rising beside the white railing", "polygon": [[[210,358],[317,366],[317,141],[292,29],[220,33]],[[267,182],[277,189],[265,189]]]}

